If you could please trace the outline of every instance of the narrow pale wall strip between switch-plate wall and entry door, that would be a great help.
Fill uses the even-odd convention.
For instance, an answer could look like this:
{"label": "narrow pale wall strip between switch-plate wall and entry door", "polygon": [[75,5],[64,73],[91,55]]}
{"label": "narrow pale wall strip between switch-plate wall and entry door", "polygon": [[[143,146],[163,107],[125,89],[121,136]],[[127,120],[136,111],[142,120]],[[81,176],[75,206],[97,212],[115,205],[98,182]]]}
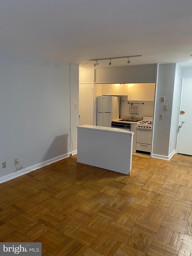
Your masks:
{"label": "narrow pale wall strip between switch-plate wall and entry door", "polygon": [[174,150],[176,150],[178,120],[179,120],[179,104],[180,104],[181,84],[182,84],[181,72],[182,72],[181,67],[178,64],[176,64],[175,83],[174,83],[174,91],[173,91],[173,107],[172,107],[172,115],[171,115],[169,155],[171,155],[171,153]]}

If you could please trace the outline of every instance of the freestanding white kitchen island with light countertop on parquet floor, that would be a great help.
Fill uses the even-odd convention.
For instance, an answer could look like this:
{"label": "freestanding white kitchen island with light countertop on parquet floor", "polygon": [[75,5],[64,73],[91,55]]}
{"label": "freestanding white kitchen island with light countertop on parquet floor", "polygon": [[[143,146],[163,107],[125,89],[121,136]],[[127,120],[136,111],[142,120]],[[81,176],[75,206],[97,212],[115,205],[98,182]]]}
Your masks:
{"label": "freestanding white kitchen island with light countertop on parquet floor", "polygon": [[77,162],[129,175],[133,135],[119,128],[77,126]]}

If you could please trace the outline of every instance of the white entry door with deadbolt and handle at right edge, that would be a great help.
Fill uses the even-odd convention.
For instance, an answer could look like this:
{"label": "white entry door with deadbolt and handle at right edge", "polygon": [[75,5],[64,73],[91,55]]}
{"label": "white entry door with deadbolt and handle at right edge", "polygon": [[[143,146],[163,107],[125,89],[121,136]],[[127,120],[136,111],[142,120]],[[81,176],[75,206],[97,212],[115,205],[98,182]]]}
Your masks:
{"label": "white entry door with deadbolt and handle at right edge", "polygon": [[179,114],[179,143],[178,153],[184,155],[192,155],[192,79],[184,79],[182,83],[182,94],[180,110],[184,111],[184,114]]}

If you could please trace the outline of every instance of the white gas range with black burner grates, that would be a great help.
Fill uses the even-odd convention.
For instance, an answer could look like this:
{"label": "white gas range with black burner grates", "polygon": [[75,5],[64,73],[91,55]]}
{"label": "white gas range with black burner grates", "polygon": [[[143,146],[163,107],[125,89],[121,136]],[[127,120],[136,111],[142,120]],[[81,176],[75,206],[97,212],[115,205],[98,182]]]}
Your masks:
{"label": "white gas range with black burner grates", "polygon": [[137,123],[136,150],[151,152],[153,118],[143,116]]}

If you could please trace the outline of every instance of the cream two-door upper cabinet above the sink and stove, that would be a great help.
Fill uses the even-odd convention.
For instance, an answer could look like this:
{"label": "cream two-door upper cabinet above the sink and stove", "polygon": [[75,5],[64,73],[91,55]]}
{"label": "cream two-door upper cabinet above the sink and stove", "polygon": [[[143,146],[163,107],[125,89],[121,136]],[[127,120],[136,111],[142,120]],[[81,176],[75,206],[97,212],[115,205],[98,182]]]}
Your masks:
{"label": "cream two-door upper cabinet above the sink and stove", "polygon": [[155,83],[129,83],[128,101],[154,101]]}

